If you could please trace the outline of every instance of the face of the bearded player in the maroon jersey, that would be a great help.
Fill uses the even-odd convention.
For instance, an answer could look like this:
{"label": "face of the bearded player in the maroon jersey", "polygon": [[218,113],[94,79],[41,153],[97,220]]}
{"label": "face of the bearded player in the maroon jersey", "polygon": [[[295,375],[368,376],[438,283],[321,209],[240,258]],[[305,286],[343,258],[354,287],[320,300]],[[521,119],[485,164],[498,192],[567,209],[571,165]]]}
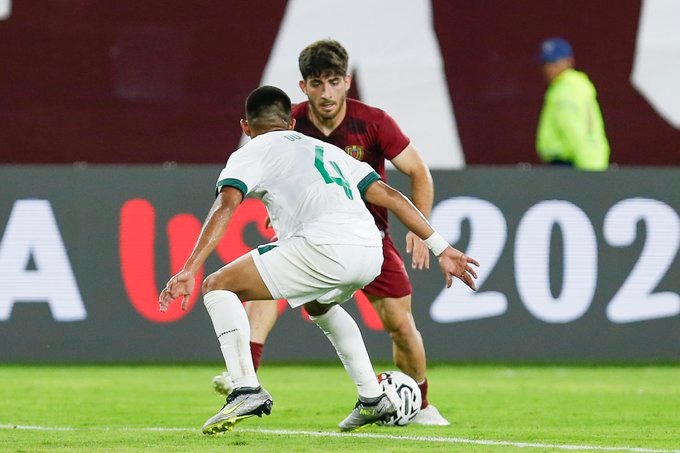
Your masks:
{"label": "face of the bearded player in the maroon jersey", "polygon": [[300,89],[309,100],[312,113],[319,119],[335,119],[344,109],[351,77],[349,75],[324,74],[300,81]]}

